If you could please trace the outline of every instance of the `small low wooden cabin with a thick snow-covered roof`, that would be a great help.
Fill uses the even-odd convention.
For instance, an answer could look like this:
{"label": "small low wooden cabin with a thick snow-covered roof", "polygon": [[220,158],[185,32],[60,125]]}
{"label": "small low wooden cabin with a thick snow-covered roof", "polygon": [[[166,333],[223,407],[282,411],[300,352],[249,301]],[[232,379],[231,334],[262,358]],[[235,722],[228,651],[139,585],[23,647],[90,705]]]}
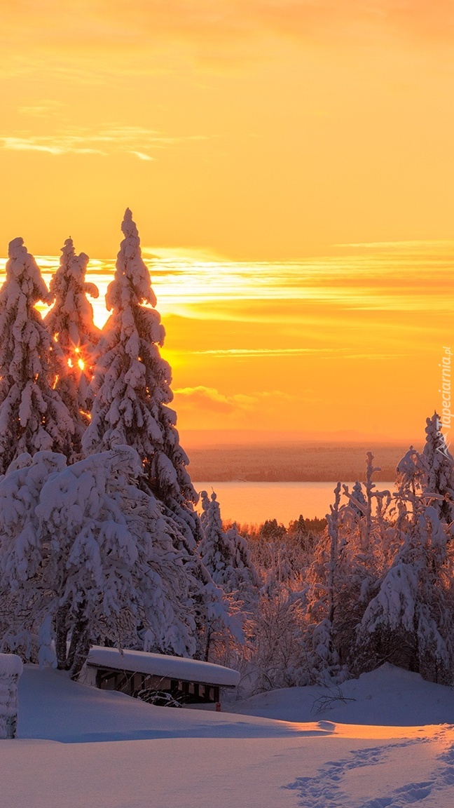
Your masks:
{"label": "small low wooden cabin with a thick snow-covered roof", "polygon": [[240,680],[232,668],[145,651],[93,646],[86,660],[86,684],[136,696],[149,689],[171,693],[185,703],[217,703],[221,688]]}

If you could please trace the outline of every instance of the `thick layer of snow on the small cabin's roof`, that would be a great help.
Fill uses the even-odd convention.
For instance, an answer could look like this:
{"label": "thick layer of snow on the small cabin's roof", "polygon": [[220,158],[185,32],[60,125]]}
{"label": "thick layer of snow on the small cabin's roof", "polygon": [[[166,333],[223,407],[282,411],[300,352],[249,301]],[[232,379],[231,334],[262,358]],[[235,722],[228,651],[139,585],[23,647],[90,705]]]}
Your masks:
{"label": "thick layer of snow on the small cabin's roof", "polygon": [[111,667],[119,671],[148,673],[200,684],[221,684],[231,688],[240,680],[238,671],[210,662],[200,662],[199,659],[182,659],[145,651],[119,651],[118,648],[103,646],[90,648],[86,663],[94,667]]}

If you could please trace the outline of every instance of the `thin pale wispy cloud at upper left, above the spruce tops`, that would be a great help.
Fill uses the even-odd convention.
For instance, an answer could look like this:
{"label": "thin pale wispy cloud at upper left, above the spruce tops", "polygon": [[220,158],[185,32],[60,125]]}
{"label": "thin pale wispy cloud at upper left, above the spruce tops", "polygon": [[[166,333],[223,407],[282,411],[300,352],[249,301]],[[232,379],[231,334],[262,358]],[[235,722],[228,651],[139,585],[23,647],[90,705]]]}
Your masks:
{"label": "thin pale wispy cloud at upper left, above the spruce tops", "polygon": [[200,141],[204,136],[166,137],[154,129],[111,124],[99,131],[76,128],[57,131],[49,135],[0,136],[0,149],[6,151],[35,151],[46,154],[99,154],[107,157],[124,152],[145,161],[154,160],[148,149],[165,149],[187,141]]}

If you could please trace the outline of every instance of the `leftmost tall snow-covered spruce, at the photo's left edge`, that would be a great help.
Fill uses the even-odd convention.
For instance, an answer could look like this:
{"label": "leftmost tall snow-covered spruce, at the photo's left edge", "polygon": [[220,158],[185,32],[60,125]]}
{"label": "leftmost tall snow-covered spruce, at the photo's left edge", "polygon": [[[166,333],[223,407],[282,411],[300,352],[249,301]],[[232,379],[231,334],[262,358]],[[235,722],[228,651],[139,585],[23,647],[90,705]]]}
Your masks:
{"label": "leftmost tall snow-covered spruce, at the photo's left edge", "polygon": [[57,343],[35,305],[50,303],[22,238],[8,248],[0,289],[0,473],[23,452],[72,452],[73,420],[55,387],[65,372]]}

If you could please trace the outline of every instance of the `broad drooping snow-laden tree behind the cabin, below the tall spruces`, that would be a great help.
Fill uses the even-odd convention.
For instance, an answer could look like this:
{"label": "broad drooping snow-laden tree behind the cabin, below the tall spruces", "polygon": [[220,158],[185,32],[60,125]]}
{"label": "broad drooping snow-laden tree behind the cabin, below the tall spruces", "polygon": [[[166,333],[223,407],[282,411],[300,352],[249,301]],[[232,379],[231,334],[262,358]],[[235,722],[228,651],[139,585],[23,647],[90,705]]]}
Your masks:
{"label": "broad drooping snow-laden tree behind the cabin, below the tall spruces", "polygon": [[36,645],[50,616],[58,667],[73,678],[90,642],[105,639],[194,654],[200,583],[174,549],[171,520],[137,488],[137,452],[118,447],[69,466],[52,452],[22,460],[0,480],[0,571],[12,607],[2,646]]}

